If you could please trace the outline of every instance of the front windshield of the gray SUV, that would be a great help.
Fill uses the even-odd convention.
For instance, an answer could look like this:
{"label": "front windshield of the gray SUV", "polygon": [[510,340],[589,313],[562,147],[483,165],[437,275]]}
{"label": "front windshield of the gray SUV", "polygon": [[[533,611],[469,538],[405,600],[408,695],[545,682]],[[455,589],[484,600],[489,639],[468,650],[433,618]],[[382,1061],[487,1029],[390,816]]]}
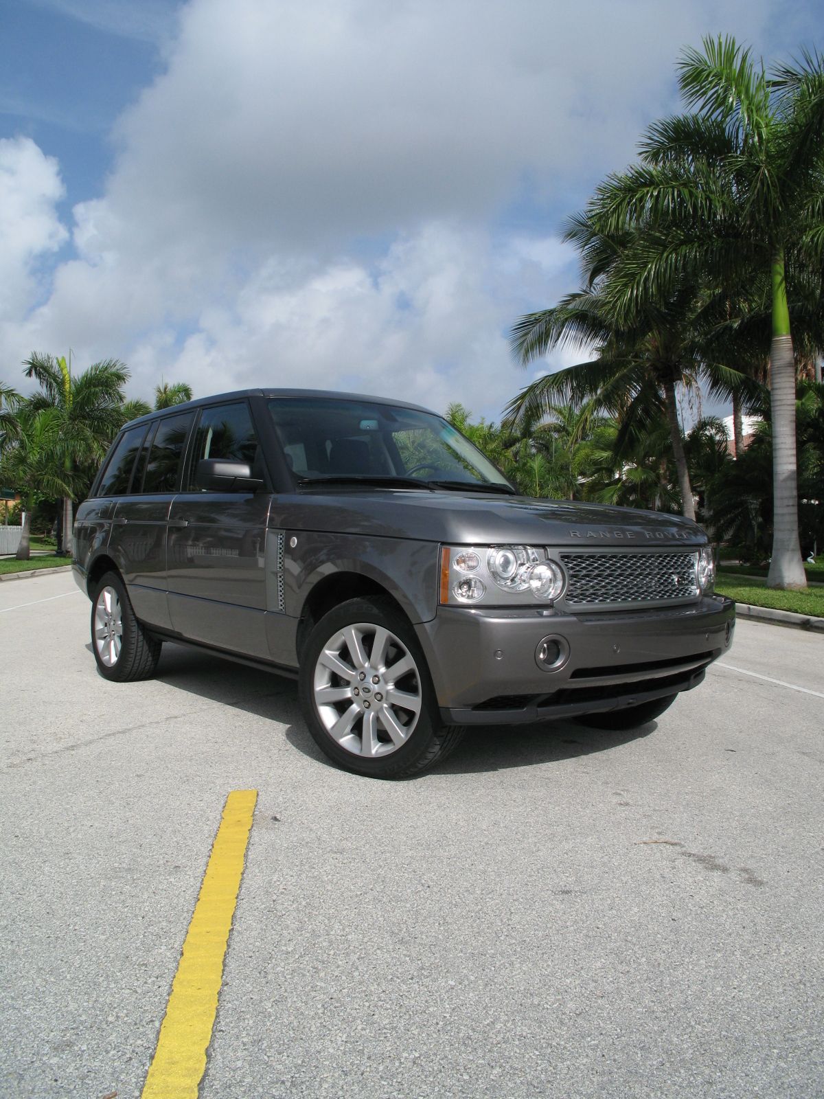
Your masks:
{"label": "front windshield of the gray SUV", "polygon": [[302,484],[403,479],[409,487],[448,482],[511,491],[503,474],[432,412],[324,397],[276,398],[269,411],[287,462]]}

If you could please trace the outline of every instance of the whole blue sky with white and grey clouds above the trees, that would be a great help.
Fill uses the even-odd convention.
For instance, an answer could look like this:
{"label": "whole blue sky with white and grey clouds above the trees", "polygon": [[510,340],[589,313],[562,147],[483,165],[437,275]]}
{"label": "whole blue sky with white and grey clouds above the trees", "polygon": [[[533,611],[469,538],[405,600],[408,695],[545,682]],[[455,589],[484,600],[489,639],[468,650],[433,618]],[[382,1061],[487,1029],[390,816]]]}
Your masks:
{"label": "whole blue sky with white and grey clouds above the trees", "polygon": [[[0,380],[269,385],[498,418],[508,331],[578,284],[564,218],[708,33],[821,0],[0,0]],[[817,43],[822,45],[821,42]]]}

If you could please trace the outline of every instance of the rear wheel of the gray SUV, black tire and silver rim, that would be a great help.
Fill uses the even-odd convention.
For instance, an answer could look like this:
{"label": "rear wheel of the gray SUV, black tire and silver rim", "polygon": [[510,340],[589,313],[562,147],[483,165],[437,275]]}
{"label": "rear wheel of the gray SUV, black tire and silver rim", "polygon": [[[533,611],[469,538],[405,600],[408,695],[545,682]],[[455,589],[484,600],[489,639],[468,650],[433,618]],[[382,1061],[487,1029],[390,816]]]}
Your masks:
{"label": "rear wheel of the gray SUV, black tire and silver rim", "polygon": [[116,573],[102,576],[91,597],[91,648],[100,675],[121,684],[151,679],[160,658],[162,642],[134,617]]}

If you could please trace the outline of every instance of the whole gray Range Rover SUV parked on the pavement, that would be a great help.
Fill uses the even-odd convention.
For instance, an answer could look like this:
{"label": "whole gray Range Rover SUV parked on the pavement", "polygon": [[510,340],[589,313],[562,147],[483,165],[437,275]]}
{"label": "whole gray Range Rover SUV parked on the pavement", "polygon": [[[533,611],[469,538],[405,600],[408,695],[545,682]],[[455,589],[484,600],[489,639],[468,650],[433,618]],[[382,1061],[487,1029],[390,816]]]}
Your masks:
{"label": "whole gray Range Rover SUV parked on the pavement", "polygon": [[728,648],[704,532],[519,496],[441,417],[256,389],[126,424],[77,511],[107,679],[164,641],[299,680],[338,765],[403,778],[470,725],[658,717]]}

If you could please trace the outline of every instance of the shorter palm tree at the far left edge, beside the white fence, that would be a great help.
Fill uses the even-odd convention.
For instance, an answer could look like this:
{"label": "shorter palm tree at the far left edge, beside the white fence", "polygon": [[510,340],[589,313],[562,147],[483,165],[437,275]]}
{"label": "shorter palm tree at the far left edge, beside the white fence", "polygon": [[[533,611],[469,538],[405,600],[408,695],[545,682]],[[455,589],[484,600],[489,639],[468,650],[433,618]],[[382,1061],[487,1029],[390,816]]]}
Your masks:
{"label": "shorter palm tree at the far left edge, beside the white fence", "polygon": [[66,469],[63,434],[65,420],[56,408],[24,408],[14,440],[0,455],[0,480],[20,496],[23,507],[23,535],[18,560],[31,556],[32,509],[37,500],[71,497],[75,477]]}

